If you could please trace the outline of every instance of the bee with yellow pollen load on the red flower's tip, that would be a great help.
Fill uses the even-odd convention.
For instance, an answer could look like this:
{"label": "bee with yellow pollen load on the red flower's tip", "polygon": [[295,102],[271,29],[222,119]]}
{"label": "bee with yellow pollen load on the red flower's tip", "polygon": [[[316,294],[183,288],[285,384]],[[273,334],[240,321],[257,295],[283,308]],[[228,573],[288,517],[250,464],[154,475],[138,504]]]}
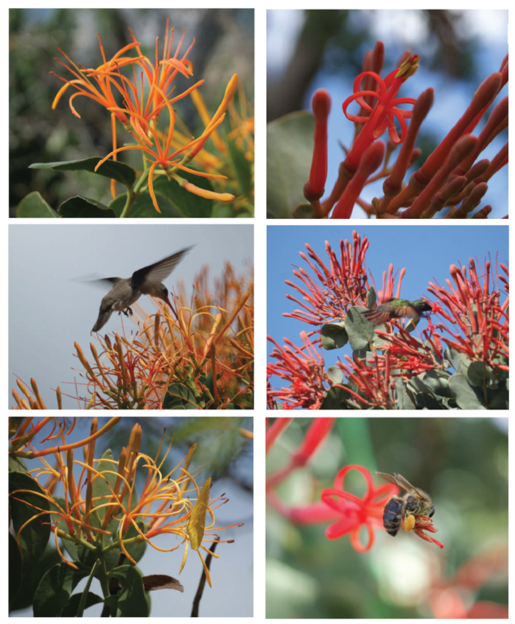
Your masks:
{"label": "bee with yellow pollen load on the red flower's tip", "polygon": [[399,485],[406,491],[406,494],[401,498],[400,496],[392,496],[392,498],[386,503],[383,510],[383,526],[387,533],[395,536],[399,531],[402,519],[404,517],[404,531],[412,531],[415,526],[416,516],[433,517],[435,508],[431,502],[428,494],[424,490],[414,488],[413,485],[404,479],[404,477],[394,472],[394,476],[386,474],[385,472],[376,472],[381,479]]}

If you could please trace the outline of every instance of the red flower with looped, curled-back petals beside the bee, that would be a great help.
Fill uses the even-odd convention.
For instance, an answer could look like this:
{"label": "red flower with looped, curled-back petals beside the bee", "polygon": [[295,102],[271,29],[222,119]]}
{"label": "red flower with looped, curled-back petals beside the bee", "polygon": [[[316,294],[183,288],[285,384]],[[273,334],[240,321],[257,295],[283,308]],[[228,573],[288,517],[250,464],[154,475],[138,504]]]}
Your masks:
{"label": "red flower with looped, curled-back petals beside the bee", "polygon": [[[363,498],[344,490],[345,477],[351,470],[357,470],[365,477],[367,491]],[[335,476],[334,487],[322,492],[322,501],[332,510],[340,513],[340,519],[326,528],[326,537],[336,540],[350,533],[351,546],[358,553],[369,551],[374,544],[374,528],[383,526],[383,508],[390,497],[399,493],[399,488],[391,483],[376,487],[372,475],[359,465],[348,465]],[[368,542],[360,541],[360,531],[365,527]]]}

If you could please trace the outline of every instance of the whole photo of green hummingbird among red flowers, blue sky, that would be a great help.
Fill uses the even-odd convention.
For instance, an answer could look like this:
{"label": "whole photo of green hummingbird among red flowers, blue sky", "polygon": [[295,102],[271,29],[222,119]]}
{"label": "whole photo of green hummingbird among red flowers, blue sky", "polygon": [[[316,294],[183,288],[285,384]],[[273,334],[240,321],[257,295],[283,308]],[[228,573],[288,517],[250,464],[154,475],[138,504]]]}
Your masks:
{"label": "whole photo of green hummingbird among red flowers, blue sky", "polygon": [[508,409],[505,225],[268,226],[268,409]]}

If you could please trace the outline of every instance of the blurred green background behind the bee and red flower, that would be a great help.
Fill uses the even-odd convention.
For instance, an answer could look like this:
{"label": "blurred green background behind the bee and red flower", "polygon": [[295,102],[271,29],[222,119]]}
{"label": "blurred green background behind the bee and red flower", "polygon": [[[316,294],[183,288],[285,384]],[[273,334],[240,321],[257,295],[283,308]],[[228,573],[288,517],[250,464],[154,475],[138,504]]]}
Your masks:
{"label": "blurred green background behind the bee and red flower", "polygon": [[[294,418],[267,458],[270,478],[288,463],[311,418]],[[288,506],[320,501],[340,468],[399,472],[430,495],[434,537],[378,529],[372,549],[349,535],[328,540],[326,524],[295,526],[267,508],[267,616],[270,618],[507,618],[507,418],[338,418],[306,467],[275,490]],[[345,490],[363,497],[349,472]],[[366,544],[365,531],[361,541]],[[466,616],[465,616],[466,617]]]}

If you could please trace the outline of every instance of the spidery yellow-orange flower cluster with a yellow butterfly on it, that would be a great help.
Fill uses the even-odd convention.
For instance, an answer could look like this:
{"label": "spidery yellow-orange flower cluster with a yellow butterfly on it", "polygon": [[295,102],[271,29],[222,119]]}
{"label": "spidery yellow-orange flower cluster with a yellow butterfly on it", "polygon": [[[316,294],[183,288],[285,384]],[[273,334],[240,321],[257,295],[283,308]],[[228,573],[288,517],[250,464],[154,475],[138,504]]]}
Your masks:
{"label": "spidery yellow-orange flower cluster with a yellow butterfly on it", "polygon": [[[69,552],[74,552],[73,544],[91,553],[101,549],[103,555],[112,549],[120,549],[132,564],[137,563],[132,550],[135,544],[149,544],[162,552],[176,551],[184,545],[180,569],[184,567],[189,549],[197,551],[211,585],[201,553],[211,551],[202,542],[219,542],[215,533],[229,528],[216,527],[214,516],[214,510],[227,499],[209,500],[211,478],[202,488],[195,482],[195,471],[189,470],[195,446],[177,466],[164,474],[161,469],[171,445],[161,461],[157,457],[162,444],[156,458],[144,454],[140,451],[142,432],[137,423],[132,427],[128,445],[122,447],[119,458],[114,459],[110,451],[97,458],[95,446],[99,437],[116,427],[120,417],[112,418],[101,429],[98,428],[98,418],[94,418],[90,435],[76,443],[66,440],[71,429],[66,431],[65,425],[59,425],[58,436],[52,431],[45,439],[59,437],[61,444],[37,450],[34,436],[50,420],[42,419],[38,426],[33,425],[32,418],[15,418],[10,423],[10,457],[18,461],[39,459],[42,465],[27,470],[26,475],[32,476],[37,483],[46,482],[39,488],[34,485],[31,490],[19,489],[10,494],[11,499],[17,501],[24,501],[24,494],[33,494],[26,503],[32,508],[33,515],[19,528],[18,544],[30,522],[35,518],[44,522],[50,517],[55,548],[62,561],[73,569],[78,569],[78,565],[67,558],[58,538],[63,540]],[[82,459],[74,456],[76,449],[83,449]],[[139,476],[144,477],[144,485],[137,494]],[[64,490],[63,496],[55,494],[58,485]],[[206,515],[209,517],[207,524]],[[157,546],[152,540],[162,534],[179,537],[180,544],[168,549]]]}

